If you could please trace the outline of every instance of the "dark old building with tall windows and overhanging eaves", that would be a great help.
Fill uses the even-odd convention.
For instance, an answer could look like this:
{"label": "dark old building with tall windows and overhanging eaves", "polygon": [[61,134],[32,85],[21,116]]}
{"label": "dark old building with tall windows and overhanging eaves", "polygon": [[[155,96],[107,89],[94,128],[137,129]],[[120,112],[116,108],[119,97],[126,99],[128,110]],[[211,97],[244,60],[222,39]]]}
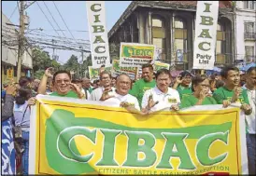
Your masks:
{"label": "dark old building with tall windows and overhanging eaves", "polygon": [[[120,43],[155,45],[160,60],[173,70],[192,69],[196,1],[133,1],[108,33],[111,59],[119,58]],[[220,1],[216,65],[234,62],[232,3]]]}

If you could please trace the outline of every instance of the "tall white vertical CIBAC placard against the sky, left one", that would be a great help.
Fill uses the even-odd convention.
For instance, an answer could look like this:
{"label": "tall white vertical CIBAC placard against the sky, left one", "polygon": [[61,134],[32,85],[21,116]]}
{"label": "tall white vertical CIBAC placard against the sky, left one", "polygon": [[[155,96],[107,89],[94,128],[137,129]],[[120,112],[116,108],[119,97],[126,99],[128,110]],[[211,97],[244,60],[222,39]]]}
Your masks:
{"label": "tall white vertical CIBAC placard against the sky, left one", "polygon": [[86,1],[90,33],[92,68],[110,66],[104,1]]}

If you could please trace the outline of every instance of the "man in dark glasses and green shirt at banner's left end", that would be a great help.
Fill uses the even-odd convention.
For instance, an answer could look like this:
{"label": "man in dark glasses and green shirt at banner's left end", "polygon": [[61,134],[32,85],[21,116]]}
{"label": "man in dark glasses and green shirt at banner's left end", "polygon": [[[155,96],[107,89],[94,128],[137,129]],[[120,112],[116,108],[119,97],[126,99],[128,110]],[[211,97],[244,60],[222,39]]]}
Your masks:
{"label": "man in dark glasses and green shirt at banner's left end", "polygon": [[82,99],[84,94],[80,91],[76,84],[71,83],[71,74],[67,71],[58,71],[51,74],[52,68],[48,68],[43,75],[40,85],[38,87],[38,94],[46,94],[47,80],[52,77],[52,84],[54,91],[50,93],[51,96],[71,97]]}

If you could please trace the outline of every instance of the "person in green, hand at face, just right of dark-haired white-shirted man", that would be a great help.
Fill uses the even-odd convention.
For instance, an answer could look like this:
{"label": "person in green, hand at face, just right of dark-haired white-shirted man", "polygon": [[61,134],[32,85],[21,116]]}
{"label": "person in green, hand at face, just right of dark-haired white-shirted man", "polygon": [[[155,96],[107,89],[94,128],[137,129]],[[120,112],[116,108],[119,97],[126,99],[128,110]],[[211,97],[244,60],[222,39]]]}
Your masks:
{"label": "person in green, hand at face, just right of dark-haired white-shirted man", "polygon": [[181,101],[183,97],[189,96],[192,94],[191,83],[192,83],[192,74],[187,71],[182,72],[180,76],[176,78],[176,82],[173,88],[178,90],[178,94]]}

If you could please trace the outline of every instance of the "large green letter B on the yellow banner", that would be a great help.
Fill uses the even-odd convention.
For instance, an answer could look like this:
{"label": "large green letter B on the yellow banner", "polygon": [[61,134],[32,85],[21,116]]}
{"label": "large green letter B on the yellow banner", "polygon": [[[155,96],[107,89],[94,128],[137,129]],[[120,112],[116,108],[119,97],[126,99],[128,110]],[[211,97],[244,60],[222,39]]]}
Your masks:
{"label": "large green letter B on the yellow banner", "polygon": [[[156,161],[156,153],[153,150],[155,137],[148,131],[125,131],[128,137],[127,159],[124,167],[149,167]],[[139,145],[139,140],[144,140],[144,144]],[[144,159],[139,159],[138,154],[143,153]]]}

